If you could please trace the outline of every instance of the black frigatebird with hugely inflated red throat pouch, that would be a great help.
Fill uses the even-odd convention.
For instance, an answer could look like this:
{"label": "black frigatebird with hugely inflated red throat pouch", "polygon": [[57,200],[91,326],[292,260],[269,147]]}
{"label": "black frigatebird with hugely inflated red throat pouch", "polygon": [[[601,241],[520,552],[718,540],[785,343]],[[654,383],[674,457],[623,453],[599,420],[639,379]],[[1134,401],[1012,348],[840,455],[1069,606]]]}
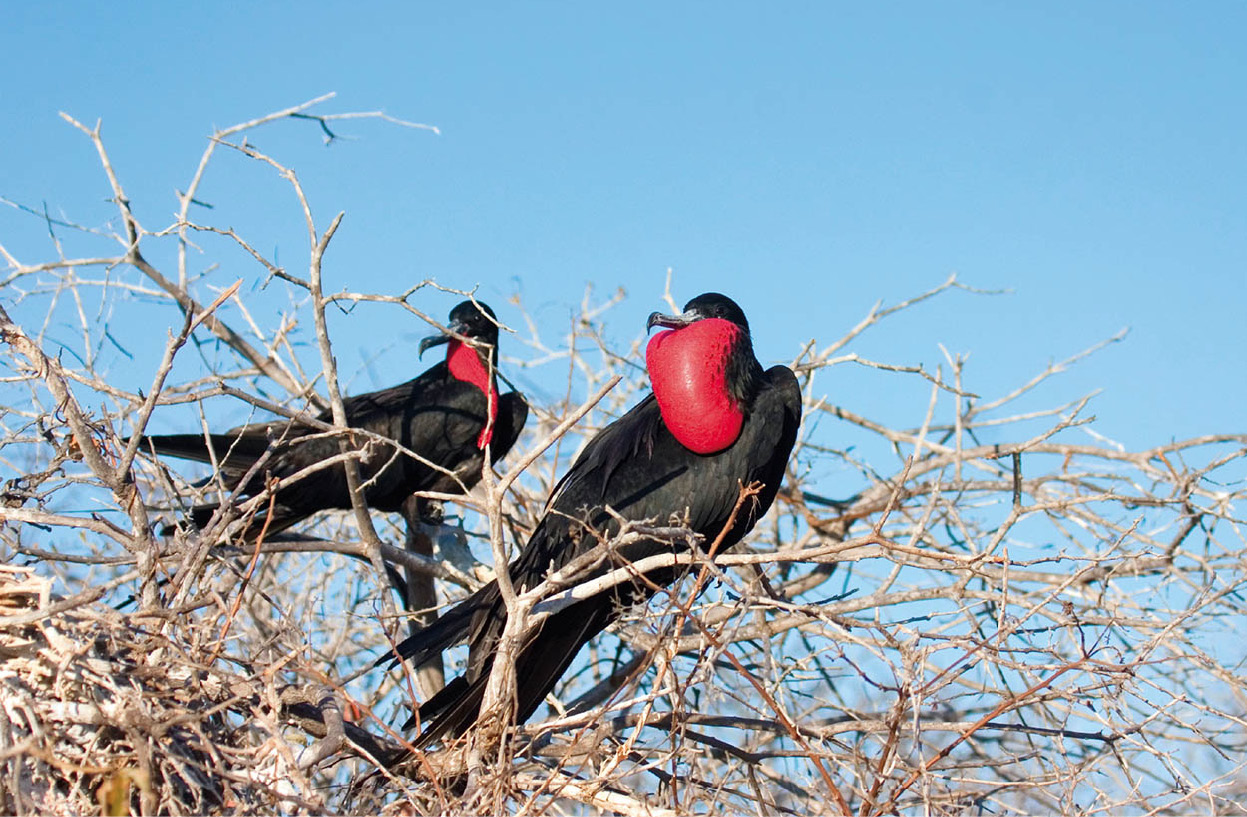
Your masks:
{"label": "black frigatebird with hugely inflated red throat pouch", "polygon": [[[656,326],[666,331],[646,348],[652,393],[590,440],[555,486],[544,516],[509,568],[516,592],[536,587],[551,571],[619,531],[619,519],[657,524],[680,519],[725,550],[774,500],[801,423],[796,375],[784,365],[762,369],[744,313],[726,296],[701,294],[678,316],[656,312],[647,328]],[[742,488],[754,484],[761,490],[738,508]],[[670,541],[631,541],[614,549],[587,578],[625,561],[686,549]],[[516,655],[515,721],[522,723],[536,711],[580,649],[624,609],[678,576],[670,566],[651,570],[545,619]],[[407,723],[423,725],[418,747],[461,736],[476,721],[505,625],[506,607],[494,581],[378,661],[407,659],[419,667],[448,647],[469,644],[464,674]]]}

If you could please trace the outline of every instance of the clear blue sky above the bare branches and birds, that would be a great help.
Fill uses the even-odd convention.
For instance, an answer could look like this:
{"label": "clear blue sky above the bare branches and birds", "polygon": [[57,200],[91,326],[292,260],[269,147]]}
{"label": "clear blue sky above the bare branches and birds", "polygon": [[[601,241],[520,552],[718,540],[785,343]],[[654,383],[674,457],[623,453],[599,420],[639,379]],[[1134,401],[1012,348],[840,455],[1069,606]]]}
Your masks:
{"label": "clear blue sky above the bare branches and birds", "polygon": [[[522,292],[561,327],[586,284],[624,286],[610,321],[638,337],[670,267],[681,301],[736,298],[771,363],[955,272],[1010,292],[949,293],[853,348],[934,368],[943,343],[993,395],[1129,327],[1039,403],[1104,388],[1097,428],[1137,448],[1243,430],[1245,41],[1241,2],[15,2],[0,196],[115,216],[64,110],[102,120],[140,218],[162,227],[213,127],[335,91],[320,112],[440,133],[252,136],[299,171],[322,226],[345,211],[329,289],[435,277],[479,284],[504,319]],[[201,198],[216,210],[200,218],[306,256],[271,172],[222,157]],[[11,207],[0,243],[52,257]],[[239,253],[211,261],[218,284],[261,277]],[[344,379],[363,349],[424,332],[398,311],[357,316],[334,322]],[[412,377],[392,358],[353,390]],[[831,400],[920,423],[925,392],[843,370],[821,380]]]}

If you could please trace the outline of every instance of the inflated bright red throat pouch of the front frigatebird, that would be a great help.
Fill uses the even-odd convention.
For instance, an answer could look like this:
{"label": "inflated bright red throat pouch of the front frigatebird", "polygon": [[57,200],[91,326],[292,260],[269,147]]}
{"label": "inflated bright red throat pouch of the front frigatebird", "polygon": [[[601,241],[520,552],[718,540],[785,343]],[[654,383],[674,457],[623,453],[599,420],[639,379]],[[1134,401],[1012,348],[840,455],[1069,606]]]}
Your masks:
{"label": "inflated bright red throat pouch of the front frigatebird", "polygon": [[662,420],[681,445],[715,454],[736,442],[761,368],[741,327],[707,318],[660,332],[650,338],[645,367]]}

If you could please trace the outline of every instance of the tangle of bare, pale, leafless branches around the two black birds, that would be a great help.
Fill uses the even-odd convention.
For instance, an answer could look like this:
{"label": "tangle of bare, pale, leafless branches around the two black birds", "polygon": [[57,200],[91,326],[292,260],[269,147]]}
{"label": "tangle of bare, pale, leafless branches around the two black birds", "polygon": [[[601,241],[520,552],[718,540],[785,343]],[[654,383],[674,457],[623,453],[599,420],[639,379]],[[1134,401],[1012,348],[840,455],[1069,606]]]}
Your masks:
{"label": "tangle of bare, pale, leafless branches around the two black birds", "polygon": [[[500,471],[469,496],[425,496],[451,503],[446,523],[424,553],[404,546],[414,514],[359,499],[367,453],[343,429],[327,312],[367,304],[435,324],[420,303],[441,287],[343,289],[324,264],[342,215],[314,216],[296,172],[248,141],[291,120],[329,140],[348,118],[412,126],[325,104],[213,133],[168,225],[138,218],[101,127],[67,116],[100,158],[111,218],[0,200],[51,246],[29,259],[0,242],[0,807],[1245,811],[1247,434],[1127,450],[1096,433],[1090,395],[1014,408],[1095,349],[995,397],[976,394],[959,357],[925,370],[853,352],[890,316],[964,288],[955,279],[848,331],[819,327],[839,338],[799,350],[802,435],[776,508],[741,546],[710,559],[713,543],[678,519],[625,525],[541,587],[513,590],[508,635],[520,639],[653,566],[585,579],[595,555],[640,535],[692,545],[665,556],[687,578],[585,650],[547,712],[508,721],[504,649],[481,730],[495,740],[412,752],[397,725],[424,692],[373,662],[426,611],[392,592],[387,564],[441,602],[493,578],[580,444],[646,385],[640,342],[621,348],[602,329],[621,292],[586,292],[564,327],[525,317],[503,365],[561,394],[530,394],[536,423]],[[201,206],[223,156],[293,193],[304,268]],[[175,328],[157,343],[162,322]],[[843,367],[927,397],[900,424],[864,417],[828,397],[826,373]],[[271,494],[226,495],[202,530],[161,534],[222,485],[141,450],[157,410],[206,429],[324,408],[352,513],[248,544],[237,531]],[[853,485],[843,496],[822,488],[833,473]]]}

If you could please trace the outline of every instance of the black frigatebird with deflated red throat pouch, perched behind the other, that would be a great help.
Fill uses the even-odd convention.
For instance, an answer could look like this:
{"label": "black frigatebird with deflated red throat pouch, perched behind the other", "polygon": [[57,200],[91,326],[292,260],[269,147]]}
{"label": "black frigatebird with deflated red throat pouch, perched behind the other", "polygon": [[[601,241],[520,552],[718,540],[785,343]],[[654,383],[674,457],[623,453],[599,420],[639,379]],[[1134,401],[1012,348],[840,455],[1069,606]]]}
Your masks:
{"label": "black frigatebird with deflated red throat pouch, perched behind the other", "polygon": [[[448,344],[444,360],[407,383],[343,400],[347,424],[370,433],[353,435],[355,447],[368,448],[359,475],[370,508],[399,511],[415,491],[470,490],[480,479],[485,452],[491,463],[501,459],[527,419],[529,407],[521,394],[498,392],[494,311],[480,301],[464,301],[450,311],[448,327],[450,333],[420,342],[421,355],[433,346]],[[328,410],[317,419],[333,423]],[[339,455],[338,439],[307,423],[277,420],[223,434],[152,434],[146,442],[157,454],[214,463],[224,489],[247,496],[263,490],[273,478],[293,476]],[[420,459],[402,452],[394,442]],[[218,506],[196,505],[191,520],[202,528]],[[340,465],[311,471],[278,488],[272,504],[263,505],[251,519],[244,535],[251,539],[262,530],[276,534],[334,508],[350,508]]]}

